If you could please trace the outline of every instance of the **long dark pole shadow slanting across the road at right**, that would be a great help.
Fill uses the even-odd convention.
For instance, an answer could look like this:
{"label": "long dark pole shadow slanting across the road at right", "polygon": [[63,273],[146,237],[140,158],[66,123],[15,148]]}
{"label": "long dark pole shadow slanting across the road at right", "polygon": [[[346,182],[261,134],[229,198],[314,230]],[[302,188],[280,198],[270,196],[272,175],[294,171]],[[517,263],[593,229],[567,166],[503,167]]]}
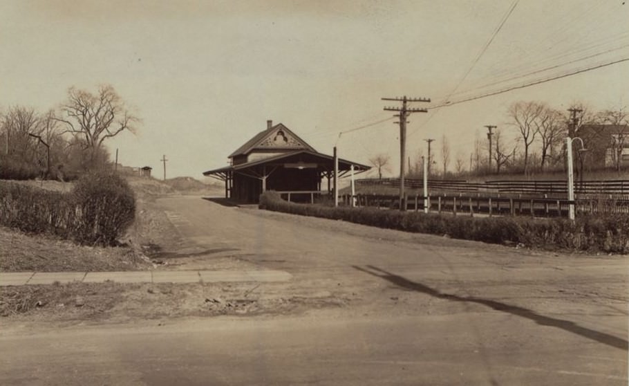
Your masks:
{"label": "long dark pole shadow slanting across the road at right", "polygon": [[470,302],[470,303],[482,304],[496,311],[503,311],[506,313],[511,313],[512,315],[517,315],[522,318],[533,320],[534,322],[542,326],[556,327],[564,331],[576,333],[577,335],[583,336],[584,338],[596,340],[597,342],[607,344],[608,346],[611,346],[611,347],[616,347],[617,349],[623,349],[625,351],[629,349],[629,342],[627,342],[626,340],[623,340],[616,336],[612,336],[608,333],[603,333],[600,331],[595,331],[592,329],[581,327],[579,326],[579,324],[570,322],[570,320],[550,318],[548,316],[534,313],[533,311],[529,309],[525,309],[523,307],[518,307],[518,306],[511,306],[509,304],[505,304],[501,302],[496,302],[496,300],[487,300],[487,299],[482,299],[481,297],[462,297],[458,295],[450,295],[448,293],[441,293],[440,291],[435,290],[434,288],[425,286],[424,284],[411,282],[411,280],[406,279],[405,277],[402,277],[400,275],[395,275],[393,273],[387,272],[386,270],[377,268],[375,266],[366,266],[366,268],[353,266],[353,268],[360,270],[364,273],[368,273],[369,275],[379,277],[380,279],[387,280],[388,282],[391,282],[401,288],[406,288],[412,291],[425,293],[426,295],[431,295],[434,297],[438,297],[439,299],[451,300],[454,302]]}

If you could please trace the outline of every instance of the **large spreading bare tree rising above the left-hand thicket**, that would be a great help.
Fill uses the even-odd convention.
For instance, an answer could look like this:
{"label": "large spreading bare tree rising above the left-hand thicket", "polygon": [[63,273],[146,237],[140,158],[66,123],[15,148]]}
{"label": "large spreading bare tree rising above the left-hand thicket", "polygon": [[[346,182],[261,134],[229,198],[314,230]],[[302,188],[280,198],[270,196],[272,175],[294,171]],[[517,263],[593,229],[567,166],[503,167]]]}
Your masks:
{"label": "large spreading bare tree rising above the left-hand thicket", "polygon": [[81,139],[91,157],[104,140],[124,130],[135,132],[135,124],[140,122],[111,85],[100,86],[97,94],[71,87],[61,112],[62,117],[55,119],[64,125],[64,132]]}

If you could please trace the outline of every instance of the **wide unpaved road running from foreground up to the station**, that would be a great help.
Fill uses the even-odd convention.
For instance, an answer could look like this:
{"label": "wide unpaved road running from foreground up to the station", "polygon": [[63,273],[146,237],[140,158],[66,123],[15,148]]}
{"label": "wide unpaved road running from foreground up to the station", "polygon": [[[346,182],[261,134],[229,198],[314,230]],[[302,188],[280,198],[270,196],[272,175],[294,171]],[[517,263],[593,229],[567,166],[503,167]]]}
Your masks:
{"label": "wide unpaved road running from foreground up to the station", "polygon": [[[627,385],[627,257],[562,255],[158,199],[163,269],[275,269],[292,309],[9,321],[3,385]],[[182,300],[183,301],[183,300]],[[275,303],[272,303],[275,304]],[[285,302],[277,302],[285,304]]]}

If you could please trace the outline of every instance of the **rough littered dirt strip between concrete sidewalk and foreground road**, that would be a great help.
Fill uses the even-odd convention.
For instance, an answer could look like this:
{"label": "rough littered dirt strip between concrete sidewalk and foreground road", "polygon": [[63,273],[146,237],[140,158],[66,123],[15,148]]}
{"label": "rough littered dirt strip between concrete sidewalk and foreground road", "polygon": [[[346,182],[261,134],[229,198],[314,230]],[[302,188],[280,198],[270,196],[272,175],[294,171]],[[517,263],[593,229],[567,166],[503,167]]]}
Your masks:
{"label": "rough littered dirt strip between concrete sidewalk and foreground road", "polygon": [[[261,292],[252,291],[252,287]],[[303,293],[286,284],[70,283],[8,286],[0,293],[0,316],[37,321],[124,321],[185,316],[303,313],[343,307],[350,299]]]}

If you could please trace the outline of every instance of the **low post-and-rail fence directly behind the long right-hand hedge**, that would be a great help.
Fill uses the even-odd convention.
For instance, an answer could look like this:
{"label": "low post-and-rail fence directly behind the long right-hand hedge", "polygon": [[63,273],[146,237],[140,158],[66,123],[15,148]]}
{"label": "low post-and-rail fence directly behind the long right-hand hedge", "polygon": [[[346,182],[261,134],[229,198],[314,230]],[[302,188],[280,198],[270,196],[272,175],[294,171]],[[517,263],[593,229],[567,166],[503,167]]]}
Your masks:
{"label": "low post-and-rail fence directly behind the long right-hand hedge", "polygon": [[[400,198],[391,194],[357,194],[353,196],[357,206],[375,208],[400,208]],[[567,217],[570,204],[574,204],[576,214],[581,213],[629,213],[629,199],[540,199],[514,198],[505,196],[480,195],[437,195],[428,196],[429,212],[450,212],[452,214],[474,214],[530,216],[530,217]],[[352,205],[352,196],[341,196],[344,205]],[[424,210],[424,196],[406,196],[402,205],[406,210]]]}

